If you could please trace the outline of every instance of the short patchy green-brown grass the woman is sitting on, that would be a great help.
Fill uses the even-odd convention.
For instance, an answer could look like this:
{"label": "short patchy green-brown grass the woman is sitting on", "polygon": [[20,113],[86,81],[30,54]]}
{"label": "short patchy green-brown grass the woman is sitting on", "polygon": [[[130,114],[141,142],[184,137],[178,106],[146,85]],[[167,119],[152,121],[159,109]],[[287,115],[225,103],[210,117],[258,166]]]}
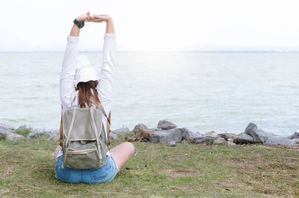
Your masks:
{"label": "short patchy green-brown grass the woman is sitting on", "polygon": [[[114,140],[112,147],[123,141]],[[55,179],[58,142],[0,140],[0,197],[299,198],[296,149],[133,144],[137,154],[112,182],[85,185]]]}

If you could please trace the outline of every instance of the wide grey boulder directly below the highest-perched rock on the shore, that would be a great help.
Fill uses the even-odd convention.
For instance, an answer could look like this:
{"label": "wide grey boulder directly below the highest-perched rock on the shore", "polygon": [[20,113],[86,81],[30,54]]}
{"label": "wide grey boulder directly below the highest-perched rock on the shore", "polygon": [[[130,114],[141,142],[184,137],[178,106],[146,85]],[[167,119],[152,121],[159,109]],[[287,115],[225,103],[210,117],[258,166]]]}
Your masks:
{"label": "wide grey boulder directly below the highest-perched rock on the shore", "polygon": [[183,132],[180,128],[162,129],[149,134],[149,141],[151,143],[168,143],[173,140],[178,143],[182,140],[182,135]]}

